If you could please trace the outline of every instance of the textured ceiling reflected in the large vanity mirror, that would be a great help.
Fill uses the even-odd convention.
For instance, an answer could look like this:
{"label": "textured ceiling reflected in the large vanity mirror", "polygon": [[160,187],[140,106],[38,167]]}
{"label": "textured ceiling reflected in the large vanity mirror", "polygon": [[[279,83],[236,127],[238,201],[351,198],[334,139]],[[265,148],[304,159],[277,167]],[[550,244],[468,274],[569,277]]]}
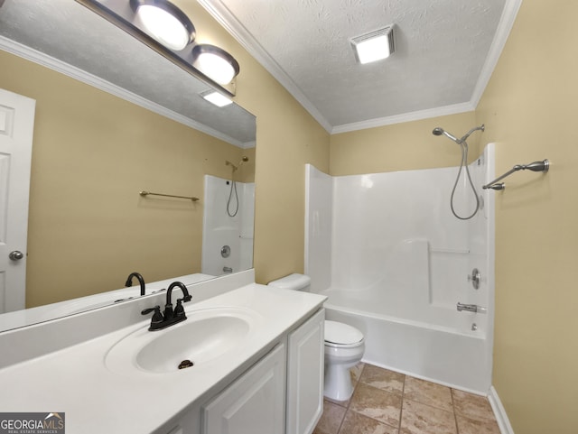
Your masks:
{"label": "textured ceiling reflected in the large vanity mirror", "polygon": [[5,0],[0,36],[89,72],[207,134],[241,147],[255,144],[253,115],[236,105],[212,106],[199,95],[209,86],[73,0]]}

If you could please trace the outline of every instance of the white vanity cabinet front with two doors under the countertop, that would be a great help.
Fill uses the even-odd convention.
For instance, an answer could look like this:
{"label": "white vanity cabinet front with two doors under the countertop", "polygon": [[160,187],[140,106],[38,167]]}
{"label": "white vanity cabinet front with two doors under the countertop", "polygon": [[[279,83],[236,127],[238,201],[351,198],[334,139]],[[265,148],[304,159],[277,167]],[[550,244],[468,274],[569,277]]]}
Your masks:
{"label": "white vanity cabinet front with two doors under the countertop", "polygon": [[289,330],[244,374],[168,434],[311,434],[323,411],[325,310]]}

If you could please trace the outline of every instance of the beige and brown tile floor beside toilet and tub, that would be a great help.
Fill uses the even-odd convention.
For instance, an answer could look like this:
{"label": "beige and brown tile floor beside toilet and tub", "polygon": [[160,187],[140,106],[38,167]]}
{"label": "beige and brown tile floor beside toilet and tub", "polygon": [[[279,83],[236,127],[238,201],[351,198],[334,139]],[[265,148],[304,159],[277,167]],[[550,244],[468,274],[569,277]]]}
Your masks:
{"label": "beige and brown tile floor beside toilet and tub", "polygon": [[326,399],[313,434],[500,434],[483,396],[367,364],[351,377],[350,401]]}

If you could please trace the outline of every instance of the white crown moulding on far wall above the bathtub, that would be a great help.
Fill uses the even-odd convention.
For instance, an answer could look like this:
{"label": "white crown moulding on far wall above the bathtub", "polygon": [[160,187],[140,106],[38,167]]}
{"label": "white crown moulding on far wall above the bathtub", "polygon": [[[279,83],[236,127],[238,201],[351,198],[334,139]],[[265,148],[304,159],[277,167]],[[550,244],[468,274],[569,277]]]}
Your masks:
{"label": "white crown moulding on far wall above the bathtub", "polygon": [[367,128],[376,128],[378,126],[402,124],[404,122],[419,121],[421,119],[430,119],[432,117],[444,115],[456,115],[475,110],[475,106],[470,103],[454,104],[453,106],[443,106],[428,108],[417,112],[404,113],[402,115],[379,117],[369,119],[368,121],[354,122],[352,124],[337,125],[331,129],[331,134],[348,133],[350,131],[364,130]]}

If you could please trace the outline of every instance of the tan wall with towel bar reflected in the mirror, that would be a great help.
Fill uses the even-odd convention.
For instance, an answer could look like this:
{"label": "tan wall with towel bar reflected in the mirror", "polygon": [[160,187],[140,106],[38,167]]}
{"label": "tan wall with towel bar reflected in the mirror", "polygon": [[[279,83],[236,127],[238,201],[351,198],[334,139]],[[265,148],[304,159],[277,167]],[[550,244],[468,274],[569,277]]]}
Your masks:
{"label": "tan wall with towel bar reflected in the mirror", "polygon": [[5,51],[0,64],[0,88],[36,99],[27,306],[122,288],[134,271],[200,272],[202,176],[254,152]]}

